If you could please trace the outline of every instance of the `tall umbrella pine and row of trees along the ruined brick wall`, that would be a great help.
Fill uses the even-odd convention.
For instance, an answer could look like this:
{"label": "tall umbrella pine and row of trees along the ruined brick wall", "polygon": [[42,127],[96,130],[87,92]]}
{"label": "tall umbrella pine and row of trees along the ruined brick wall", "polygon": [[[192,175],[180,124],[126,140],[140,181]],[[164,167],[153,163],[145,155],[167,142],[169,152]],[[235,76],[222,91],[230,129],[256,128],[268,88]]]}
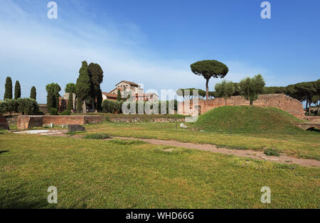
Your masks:
{"label": "tall umbrella pine and row of trees along the ruined brick wall", "polygon": [[[196,75],[201,75],[206,79],[206,91],[198,89],[198,97],[223,97],[225,104],[227,99],[231,96],[242,95],[245,99],[253,102],[258,98],[259,94],[286,94],[300,102],[306,102],[306,108],[309,107],[309,113],[311,104],[315,104],[319,107],[320,100],[320,80],[314,82],[300,82],[287,87],[265,87],[265,80],[262,75],[256,75],[255,77],[246,77],[237,82],[228,82],[223,80],[215,85],[215,91],[210,92],[208,90],[208,82],[211,77],[223,78],[228,74],[228,67],[217,60],[201,60],[191,64],[191,71]],[[195,88],[178,89],[177,94],[184,99],[193,99],[193,90]],[[190,92],[190,93],[189,93]]]}

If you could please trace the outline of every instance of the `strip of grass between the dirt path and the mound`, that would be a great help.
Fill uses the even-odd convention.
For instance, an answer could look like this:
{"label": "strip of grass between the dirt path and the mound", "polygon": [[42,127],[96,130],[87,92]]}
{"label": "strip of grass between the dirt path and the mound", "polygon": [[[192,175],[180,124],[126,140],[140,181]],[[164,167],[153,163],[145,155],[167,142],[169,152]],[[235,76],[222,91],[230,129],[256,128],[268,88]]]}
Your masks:
{"label": "strip of grass between the dirt path and the mound", "polygon": [[[312,158],[320,161],[320,134],[309,131],[292,131],[282,134],[270,131],[257,133],[220,133],[180,129],[175,123],[112,124],[110,122],[86,126],[88,134],[106,133],[112,136],[157,138],[193,143],[210,143],[228,148],[263,150],[278,149],[288,156]],[[176,129],[176,125],[178,126]]]}

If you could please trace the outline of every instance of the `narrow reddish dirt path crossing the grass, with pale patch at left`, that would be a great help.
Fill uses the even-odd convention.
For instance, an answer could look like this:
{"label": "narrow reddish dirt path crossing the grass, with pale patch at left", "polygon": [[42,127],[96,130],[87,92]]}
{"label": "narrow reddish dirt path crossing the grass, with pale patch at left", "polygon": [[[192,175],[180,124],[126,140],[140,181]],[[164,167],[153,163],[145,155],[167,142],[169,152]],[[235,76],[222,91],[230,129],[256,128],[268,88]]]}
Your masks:
{"label": "narrow reddish dirt path crossing the grass, with pale patch at left", "polygon": [[[17,131],[14,134],[36,134],[36,135],[45,135],[45,136],[63,136],[67,137],[66,135],[67,130],[32,130],[32,131]],[[82,138],[83,135],[74,135],[70,136],[72,138]],[[281,156],[266,156],[263,151],[252,151],[252,150],[236,150],[230,148],[218,148],[212,144],[198,144],[198,143],[183,143],[179,141],[166,141],[166,140],[159,140],[154,138],[128,138],[128,137],[117,137],[114,136],[113,138],[119,138],[122,140],[140,140],[146,143],[151,143],[154,145],[164,145],[164,146],[176,146],[182,148],[192,148],[198,149],[201,151],[210,151],[213,153],[223,153],[228,155],[234,155],[239,157],[245,158],[253,158],[257,160],[264,160],[264,161],[272,161],[276,163],[287,163],[287,164],[298,164],[302,166],[308,167],[320,167],[320,161],[311,160],[311,159],[302,159],[302,158],[294,158],[291,156],[286,156],[282,154]],[[105,140],[112,140],[112,138],[108,138]]]}

